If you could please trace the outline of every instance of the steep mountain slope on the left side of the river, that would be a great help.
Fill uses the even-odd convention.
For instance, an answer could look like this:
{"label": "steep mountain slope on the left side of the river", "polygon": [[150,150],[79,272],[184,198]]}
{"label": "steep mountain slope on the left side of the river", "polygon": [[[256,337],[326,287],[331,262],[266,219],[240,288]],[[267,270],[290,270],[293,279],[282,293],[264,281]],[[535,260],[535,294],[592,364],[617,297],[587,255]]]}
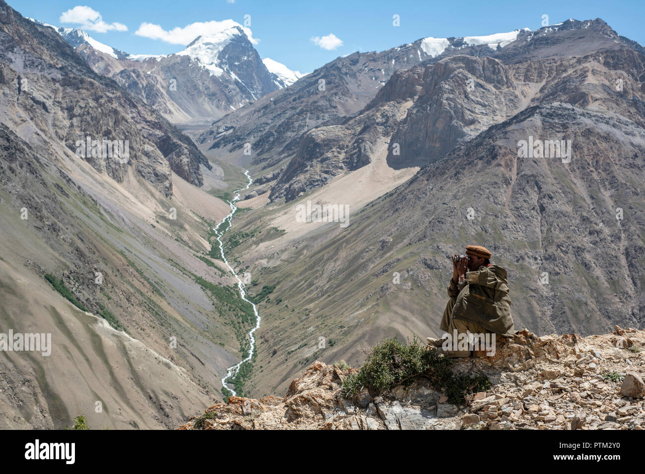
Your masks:
{"label": "steep mountain slope on the left side of the river", "polygon": [[230,208],[206,158],[3,1],[0,118],[0,332],[51,334],[50,355],[1,351],[0,426],[168,428],[221,397],[252,321],[208,255]]}

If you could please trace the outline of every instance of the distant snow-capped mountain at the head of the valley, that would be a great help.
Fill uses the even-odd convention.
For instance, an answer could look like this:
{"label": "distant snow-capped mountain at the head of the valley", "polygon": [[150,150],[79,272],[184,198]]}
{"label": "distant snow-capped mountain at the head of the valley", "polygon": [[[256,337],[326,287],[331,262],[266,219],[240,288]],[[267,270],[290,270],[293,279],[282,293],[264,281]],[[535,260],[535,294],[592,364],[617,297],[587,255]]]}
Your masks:
{"label": "distant snow-capped mountain at the head of the valley", "polygon": [[33,21],[54,28],[94,71],[114,79],[173,123],[210,123],[300,77],[284,64],[260,59],[242,26],[232,20],[169,55],[132,55],[82,30]]}

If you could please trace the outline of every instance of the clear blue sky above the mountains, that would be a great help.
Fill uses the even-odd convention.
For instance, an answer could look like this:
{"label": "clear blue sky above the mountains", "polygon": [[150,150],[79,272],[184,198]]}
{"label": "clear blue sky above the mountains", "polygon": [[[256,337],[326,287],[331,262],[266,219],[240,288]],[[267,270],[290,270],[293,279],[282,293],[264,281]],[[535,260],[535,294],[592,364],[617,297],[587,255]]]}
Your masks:
{"label": "clear blue sky above the mountains", "polygon": [[[101,14],[104,24],[98,29],[106,29],[106,32],[88,33],[101,43],[132,54],[168,54],[184,48],[182,44],[136,35],[142,23],[159,25],[168,31],[195,22],[226,19],[243,24],[244,15],[250,15],[250,29],[253,37],[259,40],[255,48],[261,57],[270,57],[303,73],[311,72],[337,56],[359,50],[386,50],[422,37],[488,35],[524,27],[537,30],[541,27],[542,15],[548,15],[549,24],[568,18],[600,17],[620,35],[645,44],[645,28],[642,27],[645,8],[638,0],[546,0],[528,5],[517,0],[230,1],[8,0],[8,3],[24,16],[75,28],[81,25],[61,22],[61,14],[76,6],[88,6]],[[395,14],[399,15],[400,26],[392,24]],[[76,17],[68,15],[68,18]],[[327,48],[336,46],[339,41],[342,44],[324,49],[312,41],[315,37],[323,38],[319,44]]]}

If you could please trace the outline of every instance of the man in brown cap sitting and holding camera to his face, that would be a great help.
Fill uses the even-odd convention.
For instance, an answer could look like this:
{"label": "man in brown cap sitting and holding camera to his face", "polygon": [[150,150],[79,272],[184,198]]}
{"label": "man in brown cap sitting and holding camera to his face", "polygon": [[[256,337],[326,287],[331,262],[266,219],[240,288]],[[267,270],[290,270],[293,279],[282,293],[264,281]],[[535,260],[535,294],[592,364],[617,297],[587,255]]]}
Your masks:
{"label": "man in brown cap sitting and holding camera to his face", "polygon": [[450,299],[439,326],[444,337],[427,339],[429,346],[442,350],[449,357],[470,355],[470,350],[444,348],[446,339],[454,339],[454,334],[508,336],[514,332],[506,270],[491,265],[490,258],[491,253],[480,245],[468,245],[466,257],[461,260],[453,255],[452,280],[448,284]]}

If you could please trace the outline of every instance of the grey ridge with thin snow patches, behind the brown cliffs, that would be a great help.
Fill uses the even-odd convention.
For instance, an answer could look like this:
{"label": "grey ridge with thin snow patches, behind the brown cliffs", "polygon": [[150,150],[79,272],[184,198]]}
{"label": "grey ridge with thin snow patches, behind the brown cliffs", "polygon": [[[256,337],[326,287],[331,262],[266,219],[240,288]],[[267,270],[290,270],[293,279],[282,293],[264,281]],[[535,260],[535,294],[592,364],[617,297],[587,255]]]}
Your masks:
{"label": "grey ridge with thin snow patches, behind the brown cliffs", "polygon": [[[338,57],[292,86],[217,120],[197,142],[222,156],[238,151],[241,155],[244,144],[250,143],[252,163],[268,169],[296,153],[308,130],[342,124],[361,111],[395,71],[455,54],[491,55],[506,47],[510,39],[527,34],[526,30],[516,30],[490,38],[428,37],[381,52],[355,52]],[[246,166],[246,162],[243,164]]]}

